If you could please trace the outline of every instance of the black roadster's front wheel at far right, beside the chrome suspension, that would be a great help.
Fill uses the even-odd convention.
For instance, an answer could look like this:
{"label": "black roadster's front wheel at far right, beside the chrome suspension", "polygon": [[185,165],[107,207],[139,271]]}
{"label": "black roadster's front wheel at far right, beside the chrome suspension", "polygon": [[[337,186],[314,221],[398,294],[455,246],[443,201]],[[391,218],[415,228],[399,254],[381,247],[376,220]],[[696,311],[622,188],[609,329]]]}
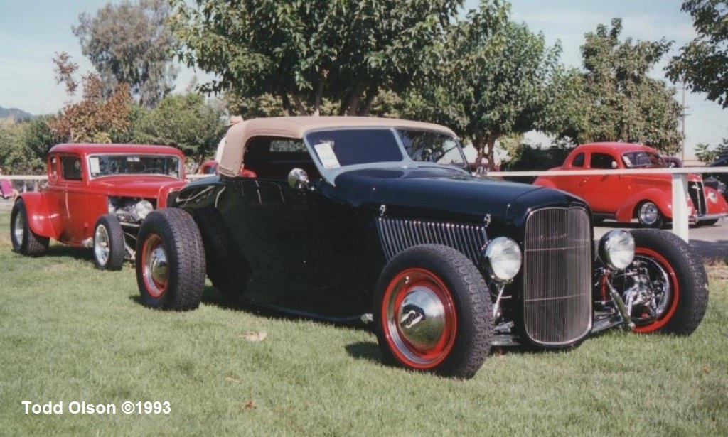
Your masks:
{"label": "black roadster's front wheel at far right, beside the chrome suspension", "polygon": [[[617,290],[638,289],[645,304],[630,313],[634,332],[689,335],[708,308],[703,262],[678,236],[664,230],[633,230],[635,261],[614,276]],[[636,294],[638,295],[638,294]],[[628,296],[622,297],[628,302]]]}

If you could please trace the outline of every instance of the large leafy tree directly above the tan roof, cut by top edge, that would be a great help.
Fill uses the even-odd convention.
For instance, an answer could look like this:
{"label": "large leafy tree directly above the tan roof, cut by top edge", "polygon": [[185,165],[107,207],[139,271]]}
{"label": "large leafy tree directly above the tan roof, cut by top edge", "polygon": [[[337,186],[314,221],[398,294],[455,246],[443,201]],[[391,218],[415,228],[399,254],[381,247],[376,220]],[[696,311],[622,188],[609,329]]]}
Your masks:
{"label": "large leafy tree directly above the tan roof, cut by top edge", "polygon": [[435,68],[462,0],[173,1],[188,65],[215,73],[205,92],[269,94],[288,113],[366,115],[382,90],[400,92]]}

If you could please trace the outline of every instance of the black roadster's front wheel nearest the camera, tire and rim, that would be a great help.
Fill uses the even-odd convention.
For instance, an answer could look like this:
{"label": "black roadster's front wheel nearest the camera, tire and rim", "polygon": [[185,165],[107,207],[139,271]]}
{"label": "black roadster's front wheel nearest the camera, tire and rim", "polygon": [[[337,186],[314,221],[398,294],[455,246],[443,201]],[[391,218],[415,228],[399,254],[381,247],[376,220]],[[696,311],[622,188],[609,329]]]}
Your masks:
{"label": "black roadster's front wheel nearest the camera, tire and rim", "polygon": [[[493,342],[486,282],[470,259],[447,246],[397,254],[379,276],[373,314],[385,360],[408,369],[470,378]],[[414,327],[423,321],[431,323]]]}

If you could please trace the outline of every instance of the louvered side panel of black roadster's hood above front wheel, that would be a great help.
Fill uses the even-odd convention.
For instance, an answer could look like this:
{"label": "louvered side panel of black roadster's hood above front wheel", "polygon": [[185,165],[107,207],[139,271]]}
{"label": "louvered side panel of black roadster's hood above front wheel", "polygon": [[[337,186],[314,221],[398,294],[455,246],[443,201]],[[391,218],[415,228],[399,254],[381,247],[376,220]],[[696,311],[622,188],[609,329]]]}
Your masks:
{"label": "louvered side panel of black roadster's hood above front wheel", "polygon": [[487,241],[483,226],[458,223],[379,217],[376,220],[376,229],[387,261],[408,247],[443,244],[458,249],[475,265],[479,265],[480,251]]}

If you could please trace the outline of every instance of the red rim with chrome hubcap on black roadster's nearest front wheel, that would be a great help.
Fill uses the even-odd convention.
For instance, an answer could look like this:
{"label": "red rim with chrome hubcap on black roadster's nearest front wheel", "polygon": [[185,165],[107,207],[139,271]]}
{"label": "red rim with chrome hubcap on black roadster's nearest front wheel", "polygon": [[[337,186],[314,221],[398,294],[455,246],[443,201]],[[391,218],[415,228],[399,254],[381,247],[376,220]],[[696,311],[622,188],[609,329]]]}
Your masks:
{"label": "red rim with chrome hubcap on black roadster's nearest front wheel", "polygon": [[405,366],[432,369],[450,354],[457,317],[448,286],[435,273],[410,268],[387,285],[381,324],[389,349]]}

